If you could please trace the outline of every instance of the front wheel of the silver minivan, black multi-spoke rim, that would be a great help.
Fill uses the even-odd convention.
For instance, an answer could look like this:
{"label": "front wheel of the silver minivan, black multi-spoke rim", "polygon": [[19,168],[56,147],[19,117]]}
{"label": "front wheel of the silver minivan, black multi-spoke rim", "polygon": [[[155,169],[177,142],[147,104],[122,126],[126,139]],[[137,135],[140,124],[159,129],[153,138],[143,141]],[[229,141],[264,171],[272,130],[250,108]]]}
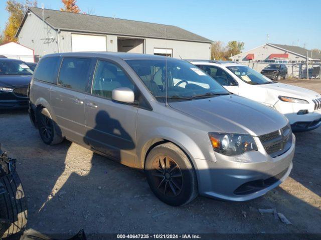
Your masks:
{"label": "front wheel of the silver minivan, black multi-spoke rim", "polygon": [[171,142],[157,145],[148,153],[145,172],[153,193],[169,205],[187,204],[198,195],[191,161]]}

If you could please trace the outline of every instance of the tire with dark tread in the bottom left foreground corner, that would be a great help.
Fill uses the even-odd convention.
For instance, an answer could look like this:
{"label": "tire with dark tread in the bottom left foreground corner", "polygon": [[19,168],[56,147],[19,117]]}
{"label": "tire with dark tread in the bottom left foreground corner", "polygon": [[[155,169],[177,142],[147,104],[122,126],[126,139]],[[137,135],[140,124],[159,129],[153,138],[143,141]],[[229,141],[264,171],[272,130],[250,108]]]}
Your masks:
{"label": "tire with dark tread in the bottom left foreground corner", "polygon": [[6,190],[0,194],[0,218],[2,223],[0,238],[22,233],[27,224],[27,200],[21,180],[16,171],[1,178],[0,183]]}

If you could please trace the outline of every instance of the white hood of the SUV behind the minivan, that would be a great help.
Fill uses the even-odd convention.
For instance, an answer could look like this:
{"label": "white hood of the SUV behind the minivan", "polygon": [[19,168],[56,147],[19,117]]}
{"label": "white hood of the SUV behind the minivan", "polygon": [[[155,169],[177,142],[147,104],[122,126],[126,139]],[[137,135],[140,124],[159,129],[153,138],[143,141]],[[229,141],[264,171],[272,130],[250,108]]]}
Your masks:
{"label": "white hood of the SUV behind the minivan", "polygon": [[257,86],[264,87],[266,89],[271,89],[281,96],[290,96],[302,99],[314,99],[320,97],[320,94],[315,91],[279,82],[271,84],[262,84]]}

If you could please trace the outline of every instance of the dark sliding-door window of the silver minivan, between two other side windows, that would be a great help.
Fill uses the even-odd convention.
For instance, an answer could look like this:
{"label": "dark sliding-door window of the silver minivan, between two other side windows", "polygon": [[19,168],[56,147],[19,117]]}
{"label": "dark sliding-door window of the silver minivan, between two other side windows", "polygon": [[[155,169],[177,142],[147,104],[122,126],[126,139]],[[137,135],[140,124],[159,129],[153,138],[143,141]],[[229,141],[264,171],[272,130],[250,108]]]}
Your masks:
{"label": "dark sliding-door window of the silver minivan, between two other side windows", "polygon": [[90,63],[90,58],[64,58],[60,68],[58,84],[76,91],[86,91]]}

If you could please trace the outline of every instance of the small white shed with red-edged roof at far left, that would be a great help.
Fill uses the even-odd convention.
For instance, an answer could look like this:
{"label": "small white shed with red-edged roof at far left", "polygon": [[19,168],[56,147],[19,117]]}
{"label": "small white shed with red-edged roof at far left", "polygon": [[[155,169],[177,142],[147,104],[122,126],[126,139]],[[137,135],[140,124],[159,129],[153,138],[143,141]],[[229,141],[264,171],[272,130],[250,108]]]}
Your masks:
{"label": "small white shed with red-edged roof at far left", "polygon": [[0,45],[0,55],[26,62],[35,61],[34,50],[16,42],[8,42]]}

